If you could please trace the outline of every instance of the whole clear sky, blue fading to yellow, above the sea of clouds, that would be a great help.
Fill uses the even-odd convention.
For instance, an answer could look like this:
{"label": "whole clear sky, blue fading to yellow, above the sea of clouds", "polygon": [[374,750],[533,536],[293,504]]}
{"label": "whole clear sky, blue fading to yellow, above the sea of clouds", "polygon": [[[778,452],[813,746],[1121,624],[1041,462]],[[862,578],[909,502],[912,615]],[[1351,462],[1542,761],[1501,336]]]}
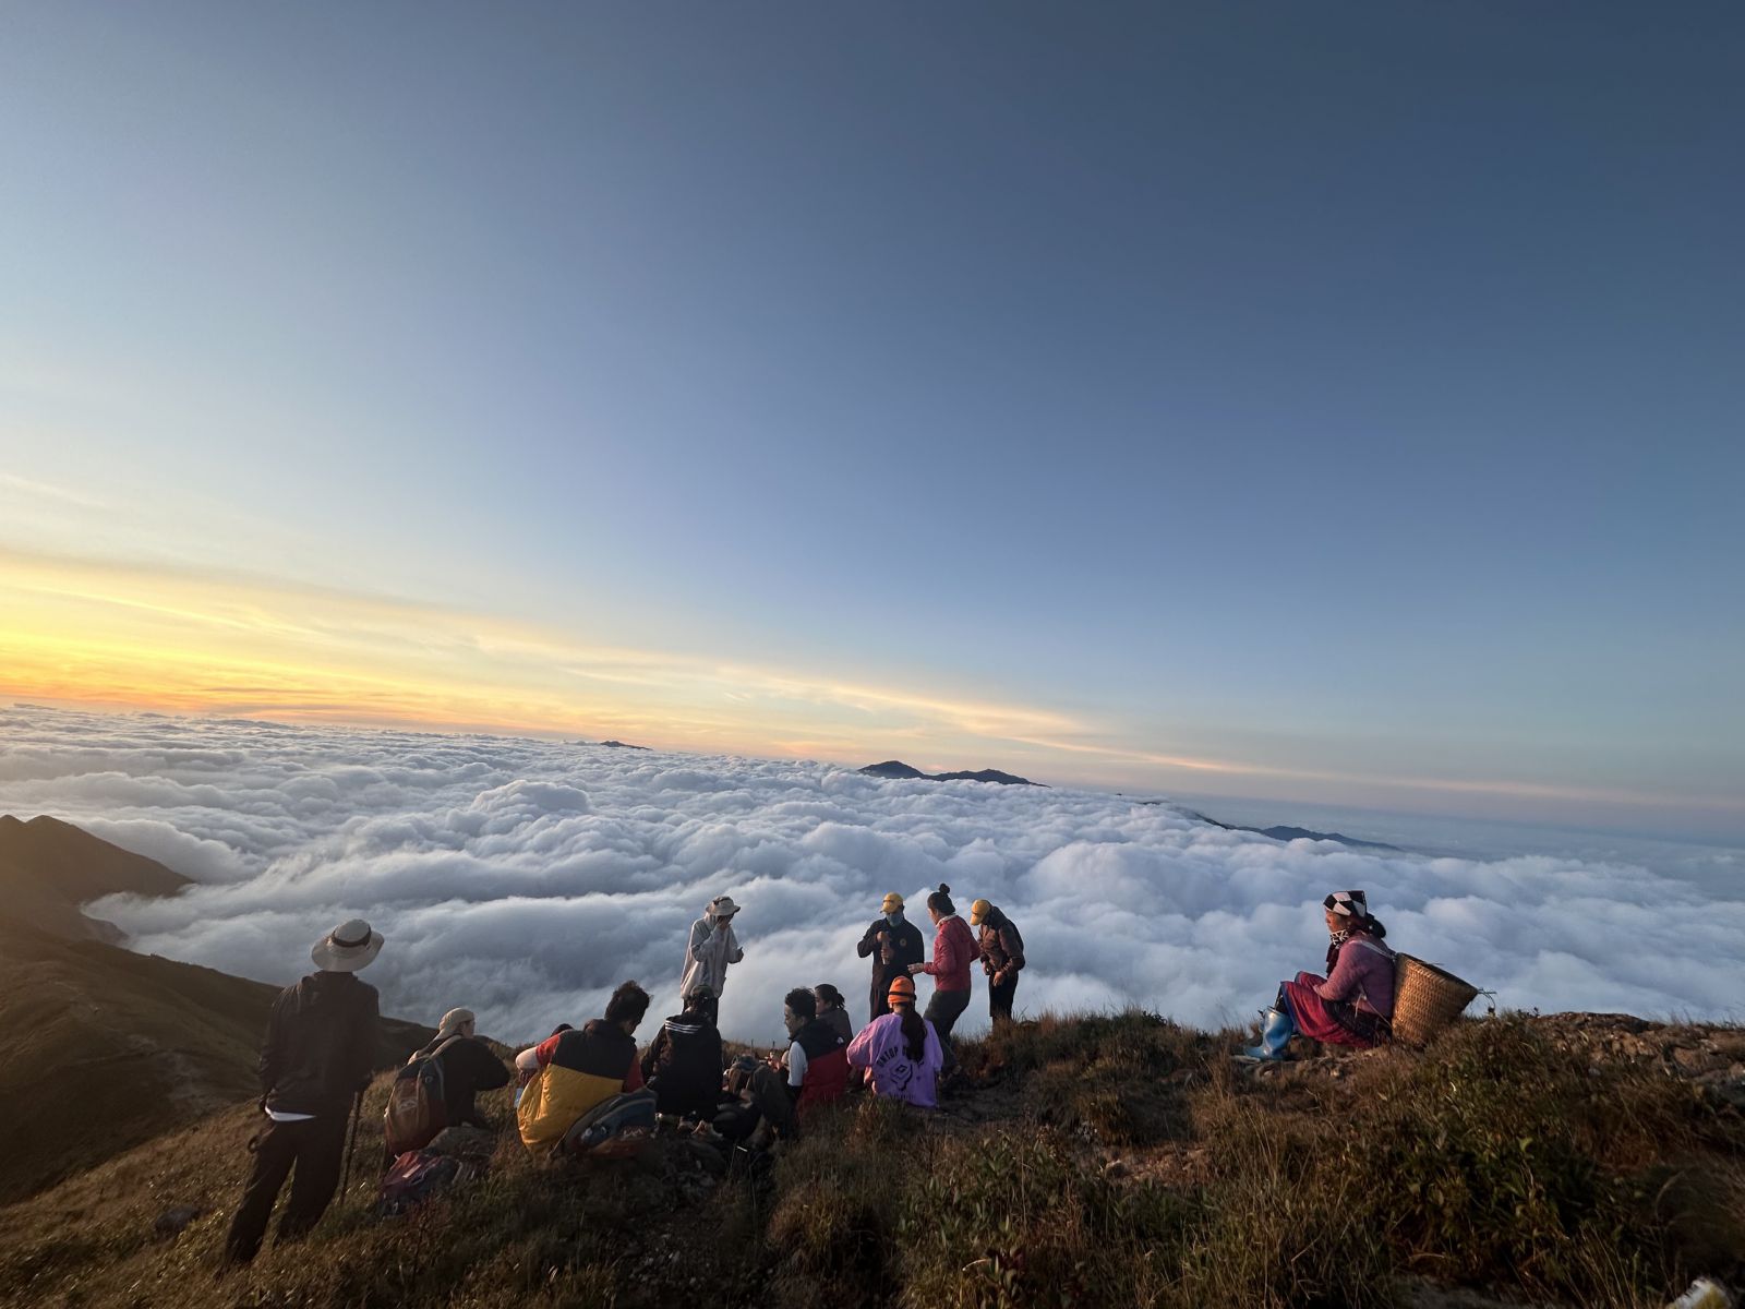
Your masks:
{"label": "whole clear sky, blue fading to yellow, above the sea of clouds", "polygon": [[0,695],[1745,834],[1735,5],[0,23]]}

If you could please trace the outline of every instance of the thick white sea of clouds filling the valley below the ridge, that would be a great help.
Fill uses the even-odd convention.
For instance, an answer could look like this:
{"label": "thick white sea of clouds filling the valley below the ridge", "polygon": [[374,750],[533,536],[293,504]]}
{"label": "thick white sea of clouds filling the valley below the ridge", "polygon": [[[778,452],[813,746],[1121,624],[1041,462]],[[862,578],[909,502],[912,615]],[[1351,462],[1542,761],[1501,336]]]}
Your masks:
{"label": "thick white sea of clouds filling the valley below the ridge", "polygon": [[[1230,833],[1166,805],[977,782],[885,782],[818,763],[0,710],[0,813],[51,813],[197,885],[91,908],[136,949],[286,983],[337,922],[387,937],[384,1012],[454,1005],[517,1042],[600,1012],[625,977],[677,1007],[691,922],[743,906],[722,1030],[770,1042],[790,986],[832,981],[866,1019],[855,942],[879,897],[953,888],[1024,932],[1021,1012],[1143,1005],[1246,1021],[1319,970],[1319,902],[1361,887],[1389,942],[1520,1009],[1740,1018],[1745,899],[1550,855],[1431,859]],[[977,1000],[965,1030],[986,1025]],[[925,983],[923,983],[925,993]]]}

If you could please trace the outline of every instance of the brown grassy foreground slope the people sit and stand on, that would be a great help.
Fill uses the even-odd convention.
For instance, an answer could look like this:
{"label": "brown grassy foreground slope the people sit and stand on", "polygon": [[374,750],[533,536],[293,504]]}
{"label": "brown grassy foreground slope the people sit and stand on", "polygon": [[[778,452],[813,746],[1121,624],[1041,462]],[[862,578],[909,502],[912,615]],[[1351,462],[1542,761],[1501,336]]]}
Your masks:
{"label": "brown grassy foreground slope the people sit and stand on", "polygon": [[[0,1211],[0,1302],[1637,1309],[1745,1276],[1738,1028],[1513,1016],[1265,1075],[1234,1044],[1026,1023],[965,1047],[946,1112],[827,1112],[763,1182],[682,1138],[553,1168],[506,1134],[485,1182],[412,1218],[373,1218],[354,1178],[309,1244],[215,1279],[237,1107]],[[485,1107],[508,1121],[506,1093]],[[169,1206],[201,1216],[154,1239]]]}

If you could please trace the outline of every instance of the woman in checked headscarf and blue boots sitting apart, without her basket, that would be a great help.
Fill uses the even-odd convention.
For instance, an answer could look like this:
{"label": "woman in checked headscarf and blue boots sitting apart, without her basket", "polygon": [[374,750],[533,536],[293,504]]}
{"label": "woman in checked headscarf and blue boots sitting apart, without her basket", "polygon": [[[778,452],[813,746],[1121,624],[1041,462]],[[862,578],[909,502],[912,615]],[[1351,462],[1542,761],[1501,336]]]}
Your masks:
{"label": "woman in checked headscarf and blue boots sitting apart, without her basket", "polygon": [[1293,1035],[1328,1045],[1370,1049],[1391,1035],[1394,1016],[1394,951],[1382,944],[1387,929],[1370,915],[1361,890],[1335,890],[1321,902],[1326,930],[1326,977],[1298,972],[1279,984],[1267,1011],[1260,1044],[1239,1058],[1283,1059]]}

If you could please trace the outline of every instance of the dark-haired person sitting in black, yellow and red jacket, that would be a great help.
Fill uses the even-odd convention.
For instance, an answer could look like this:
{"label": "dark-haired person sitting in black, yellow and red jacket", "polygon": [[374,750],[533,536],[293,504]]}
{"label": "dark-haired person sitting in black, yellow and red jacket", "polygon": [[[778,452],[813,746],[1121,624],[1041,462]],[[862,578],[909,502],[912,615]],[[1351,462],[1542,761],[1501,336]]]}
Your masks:
{"label": "dark-haired person sitting in black, yellow and red jacket", "polygon": [[522,1143],[534,1155],[551,1154],[564,1134],[604,1101],[642,1089],[637,1038],[649,993],[625,983],[606,1002],[606,1018],[588,1019],[515,1056],[517,1068],[532,1068],[517,1122]]}

